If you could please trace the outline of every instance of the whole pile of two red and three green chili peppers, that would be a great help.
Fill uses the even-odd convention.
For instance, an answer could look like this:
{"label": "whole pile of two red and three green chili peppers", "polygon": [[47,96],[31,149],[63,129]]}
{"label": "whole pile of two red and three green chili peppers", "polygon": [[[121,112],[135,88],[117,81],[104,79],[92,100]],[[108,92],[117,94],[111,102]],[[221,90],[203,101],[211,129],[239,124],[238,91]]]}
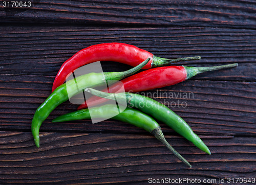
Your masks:
{"label": "whole pile of two red and three green chili peppers", "polygon": [[[59,104],[67,101],[70,97],[77,95],[84,90],[96,96],[91,97],[87,102],[81,104],[77,111],[61,115],[60,117],[55,118],[52,122],[90,119],[91,111],[99,118],[104,117],[104,115],[112,113],[114,105],[100,104],[108,101],[108,99],[116,100],[116,98],[119,98],[126,102],[128,107],[115,115],[113,119],[130,123],[152,133],[185,165],[191,167],[188,161],[167,143],[157,121],[165,123],[177,133],[184,136],[188,141],[192,142],[199,149],[210,154],[208,147],[203,143],[200,137],[193,132],[189,125],[175,112],[151,98],[134,94],[132,92],[140,92],[174,85],[190,79],[200,73],[221,70],[223,68],[238,65],[237,63],[213,67],[169,65],[178,61],[195,59],[200,59],[200,57],[186,57],[178,59],[160,58],[150,52],[139,49],[134,45],[115,42],[92,45],[91,47],[77,52],[62,64],[54,80],[52,94],[35,111],[31,125],[35,145],[39,147],[39,128],[52,110],[54,110]],[[134,67],[125,72],[89,73],[64,83],[67,77],[78,67],[96,61],[114,61]],[[146,70],[133,75],[141,68]],[[98,91],[91,88],[100,86],[104,84],[105,81],[110,80],[121,80],[125,92],[110,94],[108,93],[108,89]],[[67,86],[69,86],[69,92],[67,90]],[[80,87],[79,89],[82,89],[82,91],[78,90],[77,87]],[[112,92],[118,92],[119,88],[120,85],[117,83],[112,84],[109,87]],[[90,112],[88,109],[89,102],[90,106],[95,106],[90,109]],[[139,106],[140,103],[146,104],[147,106]]]}

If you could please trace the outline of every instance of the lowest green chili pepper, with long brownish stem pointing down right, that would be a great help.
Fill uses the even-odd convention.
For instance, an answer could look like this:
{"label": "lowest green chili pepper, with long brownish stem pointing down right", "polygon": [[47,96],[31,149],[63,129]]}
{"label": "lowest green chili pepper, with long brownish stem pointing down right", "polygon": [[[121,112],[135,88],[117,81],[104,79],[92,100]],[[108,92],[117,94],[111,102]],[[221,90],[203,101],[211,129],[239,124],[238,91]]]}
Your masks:
{"label": "lowest green chili pepper, with long brownish stem pointing down right", "polygon": [[[98,118],[104,118],[104,115],[115,115],[115,111],[114,111],[115,107],[116,105],[106,104],[100,107],[92,107],[90,108],[90,112],[93,113],[93,115],[98,115]],[[89,112],[89,109],[77,110],[75,112],[70,112],[67,114],[60,115],[60,117],[55,118],[54,120],[52,120],[52,122],[66,122],[66,121],[73,121],[73,120],[90,119],[91,118],[90,112]],[[161,127],[149,115],[139,110],[126,107],[125,110],[115,115],[113,119],[130,123],[134,126],[143,128],[144,130],[152,133],[170,151],[172,151],[175,154],[175,156],[177,156],[185,165],[191,167],[188,161],[185,158],[183,158],[172,146],[168,144],[168,142],[164,138]]]}

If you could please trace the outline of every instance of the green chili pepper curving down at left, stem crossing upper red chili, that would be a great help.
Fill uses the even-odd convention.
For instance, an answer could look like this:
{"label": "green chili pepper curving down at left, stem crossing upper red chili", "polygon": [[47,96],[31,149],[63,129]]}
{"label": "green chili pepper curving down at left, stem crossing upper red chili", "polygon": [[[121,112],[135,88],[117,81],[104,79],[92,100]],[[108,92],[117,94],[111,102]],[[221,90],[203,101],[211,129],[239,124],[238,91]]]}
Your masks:
{"label": "green chili pepper curving down at left, stem crossing upper red chili", "polygon": [[[132,75],[139,71],[143,66],[150,61],[147,58],[145,61],[140,63],[134,68],[131,68],[125,72],[108,72],[108,73],[89,73],[86,75],[81,75],[75,79],[69,80],[57,87],[52,94],[42,103],[35,111],[31,130],[34,137],[35,145],[39,147],[39,129],[49,114],[61,103],[67,101],[69,97],[72,97],[80,92],[79,88],[95,87],[102,85],[108,80],[121,80],[129,75]],[[69,92],[67,91],[67,86],[69,87]],[[68,94],[69,93],[69,94]]]}

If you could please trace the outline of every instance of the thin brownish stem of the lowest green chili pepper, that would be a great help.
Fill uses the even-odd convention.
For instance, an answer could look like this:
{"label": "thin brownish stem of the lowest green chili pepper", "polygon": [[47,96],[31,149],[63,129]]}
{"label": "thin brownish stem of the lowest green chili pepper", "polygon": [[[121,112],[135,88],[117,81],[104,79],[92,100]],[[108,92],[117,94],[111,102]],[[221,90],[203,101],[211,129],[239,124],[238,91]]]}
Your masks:
{"label": "thin brownish stem of the lowest green chili pepper", "polygon": [[165,140],[163,132],[161,130],[160,127],[157,127],[156,129],[154,129],[151,132],[153,135],[155,135],[155,137],[162,142],[171,152],[173,152],[173,154],[178,157],[182,163],[184,163],[186,166],[188,166],[189,168],[191,168],[191,165],[188,163],[188,161],[182,157],[172,146],[170,146],[170,144],[168,144],[168,142]]}

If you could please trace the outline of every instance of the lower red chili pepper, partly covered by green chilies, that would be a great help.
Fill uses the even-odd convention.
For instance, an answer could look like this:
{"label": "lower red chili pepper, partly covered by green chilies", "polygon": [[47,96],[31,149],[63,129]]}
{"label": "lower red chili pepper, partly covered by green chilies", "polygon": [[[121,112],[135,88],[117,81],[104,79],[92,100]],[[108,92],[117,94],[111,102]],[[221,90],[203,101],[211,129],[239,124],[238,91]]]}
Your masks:
{"label": "lower red chili pepper, partly covered by green chilies", "polygon": [[[165,66],[165,67],[157,67],[154,69],[146,70],[135,74],[133,76],[127,77],[121,82],[123,83],[123,87],[125,92],[140,92],[144,90],[150,90],[155,88],[161,88],[169,85],[174,85],[189,78],[196,76],[197,74],[221,70],[223,68],[235,67],[237,63],[228,64],[228,65],[220,65],[220,66],[212,66],[212,67],[188,67],[188,66]],[[117,92],[120,89],[120,83],[113,84],[109,87],[111,92]],[[101,90],[103,92],[108,92],[108,89]],[[90,102],[90,106],[99,105],[103,102],[108,101],[105,98],[100,98],[97,96],[93,96],[88,99],[88,103]],[[87,108],[88,105],[86,102],[81,104],[77,109]]]}

